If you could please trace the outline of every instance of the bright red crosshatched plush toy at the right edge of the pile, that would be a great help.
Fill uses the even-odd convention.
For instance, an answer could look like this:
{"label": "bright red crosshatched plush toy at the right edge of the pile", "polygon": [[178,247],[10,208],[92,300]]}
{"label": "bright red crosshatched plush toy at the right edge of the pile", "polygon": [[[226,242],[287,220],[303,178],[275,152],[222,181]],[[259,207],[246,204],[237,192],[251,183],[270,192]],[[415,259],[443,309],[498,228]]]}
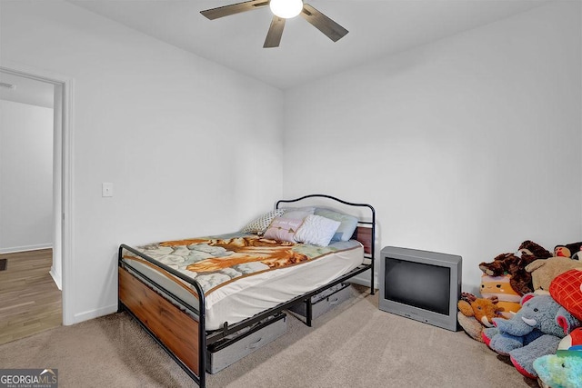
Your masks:
{"label": "bright red crosshatched plush toy at the right edge of the pile", "polygon": [[558,274],[549,285],[549,293],[557,303],[582,321],[582,269]]}

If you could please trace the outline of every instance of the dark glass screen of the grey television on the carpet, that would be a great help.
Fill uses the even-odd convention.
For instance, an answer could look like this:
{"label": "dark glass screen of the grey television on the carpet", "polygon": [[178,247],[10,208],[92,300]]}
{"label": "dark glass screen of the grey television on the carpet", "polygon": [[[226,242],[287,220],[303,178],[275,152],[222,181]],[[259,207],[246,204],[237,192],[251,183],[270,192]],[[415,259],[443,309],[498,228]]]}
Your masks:
{"label": "dark glass screen of the grey television on the carpet", "polygon": [[386,257],[384,297],[417,308],[449,313],[450,268]]}

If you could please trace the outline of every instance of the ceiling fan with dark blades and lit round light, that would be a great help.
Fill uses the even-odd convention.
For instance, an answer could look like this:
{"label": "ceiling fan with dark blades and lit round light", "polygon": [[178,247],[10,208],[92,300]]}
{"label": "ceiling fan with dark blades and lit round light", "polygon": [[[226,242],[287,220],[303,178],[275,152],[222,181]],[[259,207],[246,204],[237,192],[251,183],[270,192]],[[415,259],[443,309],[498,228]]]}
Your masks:
{"label": "ceiling fan with dark blades and lit round light", "polygon": [[205,15],[210,20],[214,20],[219,17],[252,11],[266,5],[269,5],[271,12],[273,12],[273,20],[271,20],[271,26],[266,34],[265,45],[263,45],[265,48],[279,46],[286,19],[290,19],[296,15],[301,15],[307,22],[314,25],[334,42],[337,42],[347,34],[346,28],[338,25],[329,17],[317,11],[313,6],[304,4],[302,0],[250,0],[206,9],[206,11],[200,11],[200,14]]}

